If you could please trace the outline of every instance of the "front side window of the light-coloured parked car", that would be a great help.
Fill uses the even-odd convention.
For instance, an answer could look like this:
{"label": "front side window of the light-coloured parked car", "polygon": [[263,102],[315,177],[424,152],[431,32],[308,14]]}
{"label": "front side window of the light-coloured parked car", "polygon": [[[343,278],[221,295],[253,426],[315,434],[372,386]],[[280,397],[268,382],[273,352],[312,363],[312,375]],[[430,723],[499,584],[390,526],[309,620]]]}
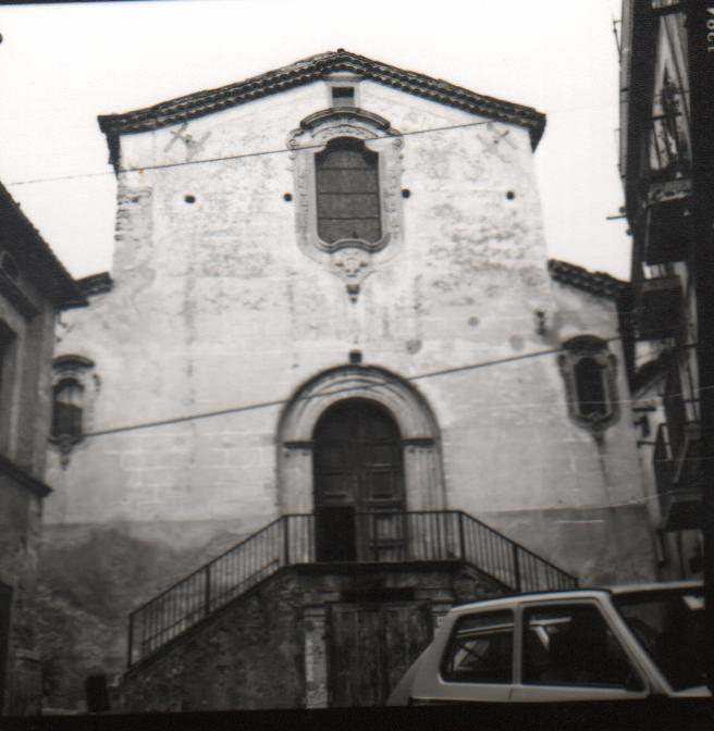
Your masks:
{"label": "front side window of the light-coloured parked car", "polygon": [[594,605],[528,609],[524,631],[524,683],[643,687]]}

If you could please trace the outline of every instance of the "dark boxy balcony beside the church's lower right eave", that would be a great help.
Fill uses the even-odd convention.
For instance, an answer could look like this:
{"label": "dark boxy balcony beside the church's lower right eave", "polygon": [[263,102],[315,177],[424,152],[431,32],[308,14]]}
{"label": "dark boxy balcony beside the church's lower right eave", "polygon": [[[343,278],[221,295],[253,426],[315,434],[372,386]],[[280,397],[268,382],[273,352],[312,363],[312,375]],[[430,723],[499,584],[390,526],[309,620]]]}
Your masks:
{"label": "dark boxy balcony beside the church's lower right eave", "polygon": [[675,337],[682,319],[682,292],[678,276],[642,280],[635,297],[638,340]]}

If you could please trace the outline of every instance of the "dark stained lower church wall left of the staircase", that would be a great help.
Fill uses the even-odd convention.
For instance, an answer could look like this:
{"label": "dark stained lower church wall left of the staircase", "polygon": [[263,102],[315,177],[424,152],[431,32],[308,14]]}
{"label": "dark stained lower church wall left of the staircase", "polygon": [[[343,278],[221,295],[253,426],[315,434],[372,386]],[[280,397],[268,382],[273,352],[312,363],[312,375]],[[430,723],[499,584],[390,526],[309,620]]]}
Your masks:
{"label": "dark stained lower church wall left of the staircase", "polygon": [[128,614],[239,538],[224,534],[176,550],[116,526],[47,526],[36,643],[44,707],[82,709],[89,674],[103,672],[112,683],[126,669]]}

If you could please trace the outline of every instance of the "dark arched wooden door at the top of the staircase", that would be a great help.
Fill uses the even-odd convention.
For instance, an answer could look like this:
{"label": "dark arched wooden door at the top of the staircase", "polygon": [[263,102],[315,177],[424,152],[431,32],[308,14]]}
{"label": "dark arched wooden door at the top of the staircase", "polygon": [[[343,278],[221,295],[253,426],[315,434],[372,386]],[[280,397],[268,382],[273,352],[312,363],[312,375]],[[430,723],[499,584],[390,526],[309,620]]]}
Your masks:
{"label": "dark arched wooden door at the top of the staircase", "polygon": [[403,442],[383,406],[353,398],[320,417],[313,433],[313,481],[319,561],[403,557]]}

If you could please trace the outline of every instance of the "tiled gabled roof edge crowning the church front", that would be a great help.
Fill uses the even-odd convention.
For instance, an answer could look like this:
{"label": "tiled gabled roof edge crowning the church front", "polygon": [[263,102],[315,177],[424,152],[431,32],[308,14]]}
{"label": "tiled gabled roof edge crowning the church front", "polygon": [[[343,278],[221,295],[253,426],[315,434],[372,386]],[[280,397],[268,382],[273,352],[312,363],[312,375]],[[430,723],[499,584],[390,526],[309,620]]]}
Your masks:
{"label": "tiled gabled roof edge crowning the church front", "polygon": [[533,148],[545,128],[545,116],[530,107],[484,97],[424,74],[372,61],[342,48],[311,55],[237,84],[189,94],[133,112],[101,115],[98,117],[99,126],[110,137],[111,146],[111,138],[122,133],[159,129],[309,84],[338,71],[358,74],[362,78],[498,122],[520,125],[530,131]]}

